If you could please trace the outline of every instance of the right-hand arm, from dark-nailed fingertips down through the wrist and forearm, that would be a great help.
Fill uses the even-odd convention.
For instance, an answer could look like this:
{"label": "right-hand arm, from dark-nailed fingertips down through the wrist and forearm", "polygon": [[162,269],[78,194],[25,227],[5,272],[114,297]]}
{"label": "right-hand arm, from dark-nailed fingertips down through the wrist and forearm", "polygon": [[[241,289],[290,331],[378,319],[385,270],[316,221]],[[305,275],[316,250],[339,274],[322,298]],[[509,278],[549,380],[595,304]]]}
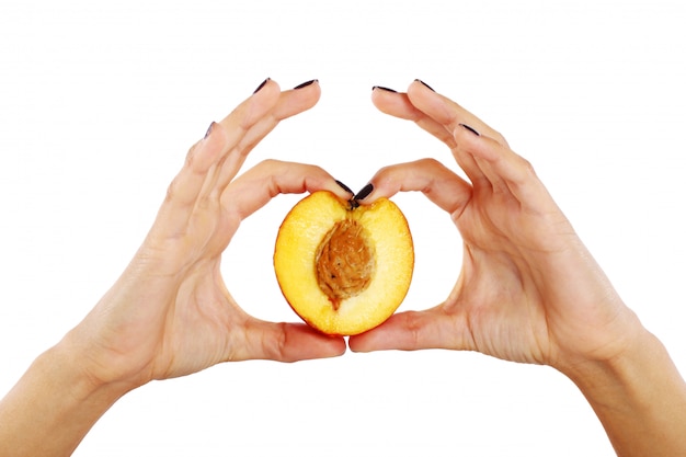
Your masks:
{"label": "right-hand arm, from dark-nailed fingertips down through the wrist and forearm", "polygon": [[407,93],[376,89],[373,102],[442,140],[469,182],[431,159],[397,164],[371,179],[374,192],[363,203],[423,192],[450,214],[465,254],[443,304],[397,313],[352,336],[351,350],[441,347],[550,365],[579,386],[618,455],[686,455],[684,380],[531,165],[502,135],[420,81]]}

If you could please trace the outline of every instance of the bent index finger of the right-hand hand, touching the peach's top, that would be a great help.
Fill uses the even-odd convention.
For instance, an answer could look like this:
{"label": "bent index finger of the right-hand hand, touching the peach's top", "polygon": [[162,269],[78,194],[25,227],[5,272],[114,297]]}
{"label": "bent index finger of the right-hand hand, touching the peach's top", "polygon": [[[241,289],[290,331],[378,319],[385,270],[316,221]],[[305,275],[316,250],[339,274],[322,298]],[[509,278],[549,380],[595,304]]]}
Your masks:
{"label": "bent index finger of the right-hand hand, touching the peach's top", "polygon": [[454,218],[462,213],[472,194],[472,187],[465,180],[434,159],[385,167],[369,183],[374,190],[363,199],[364,204],[398,192],[419,191]]}

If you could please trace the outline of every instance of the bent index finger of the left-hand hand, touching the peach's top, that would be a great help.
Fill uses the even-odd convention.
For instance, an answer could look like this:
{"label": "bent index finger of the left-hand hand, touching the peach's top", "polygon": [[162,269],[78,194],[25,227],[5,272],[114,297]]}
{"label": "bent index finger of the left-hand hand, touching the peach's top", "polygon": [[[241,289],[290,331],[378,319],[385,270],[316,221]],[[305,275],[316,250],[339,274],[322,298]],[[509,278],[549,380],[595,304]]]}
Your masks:
{"label": "bent index finger of the left-hand hand, touching the peach's top", "polygon": [[352,197],[323,169],[304,163],[265,160],[236,179],[221,196],[221,204],[242,220],[278,194],[329,191],[343,201]]}

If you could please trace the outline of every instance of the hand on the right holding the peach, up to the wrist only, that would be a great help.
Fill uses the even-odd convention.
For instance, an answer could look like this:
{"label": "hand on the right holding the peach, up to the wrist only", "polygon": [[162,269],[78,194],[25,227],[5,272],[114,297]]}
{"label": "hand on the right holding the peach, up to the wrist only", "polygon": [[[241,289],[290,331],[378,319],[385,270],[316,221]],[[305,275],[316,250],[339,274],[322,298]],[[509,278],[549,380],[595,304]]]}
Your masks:
{"label": "hand on the right holding the peach, up to the wrist only", "polygon": [[423,192],[450,214],[464,259],[443,304],[397,313],[351,338],[351,349],[468,350],[559,369],[619,356],[642,328],[530,164],[498,132],[421,81],[407,94],[377,88],[373,101],[445,142],[470,182],[426,159],[380,170],[363,202]]}

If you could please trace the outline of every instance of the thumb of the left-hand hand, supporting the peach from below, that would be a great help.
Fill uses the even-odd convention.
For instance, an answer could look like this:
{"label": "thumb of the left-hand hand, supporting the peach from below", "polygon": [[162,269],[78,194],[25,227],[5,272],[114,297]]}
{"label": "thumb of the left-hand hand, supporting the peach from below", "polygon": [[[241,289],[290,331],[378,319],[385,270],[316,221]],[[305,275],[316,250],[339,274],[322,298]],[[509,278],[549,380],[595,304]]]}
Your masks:
{"label": "thumb of the left-hand hand, supporting the peach from below", "polygon": [[345,353],[342,336],[329,336],[304,323],[274,323],[251,318],[247,341],[230,359],[296,362],[336,357]]}

